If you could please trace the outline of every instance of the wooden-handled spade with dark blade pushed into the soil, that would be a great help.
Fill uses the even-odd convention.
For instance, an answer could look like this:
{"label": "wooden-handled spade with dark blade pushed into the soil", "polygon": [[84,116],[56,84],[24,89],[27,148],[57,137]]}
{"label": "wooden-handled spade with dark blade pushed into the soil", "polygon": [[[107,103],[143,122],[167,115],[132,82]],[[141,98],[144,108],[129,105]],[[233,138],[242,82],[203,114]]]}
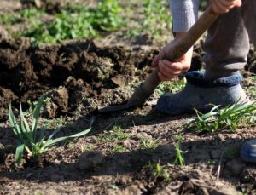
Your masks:
{"label": "wooden-handled spade with dark blade pushed into the soil", "polygon": [[[177,40],[177,43],[166,53],[163,59],[170,61],[179,60],[217,18],[218,14],[214,13],[212,7],[209,6],[205,13],[195,22],[195,25],[189,29],[189,32],[186,32],[183,37]],[[131,95],[131,99],[125,105],[107,106],[100,109],[99,112],[118,112],[132,107],[143,106],[160,83],[158,71],[158,67],[154,69],[148,78],[135,90],[134,94]]]}

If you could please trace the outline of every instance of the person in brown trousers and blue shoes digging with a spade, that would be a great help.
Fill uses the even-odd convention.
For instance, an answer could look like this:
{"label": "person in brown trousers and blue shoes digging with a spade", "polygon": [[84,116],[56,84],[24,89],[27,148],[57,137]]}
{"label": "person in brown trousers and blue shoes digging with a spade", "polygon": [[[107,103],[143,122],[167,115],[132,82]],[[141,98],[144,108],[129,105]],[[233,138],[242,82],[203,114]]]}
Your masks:
{"label": "person in brown trousers and blue shoes digging with a spade", "polygon": [[[241,87],[241,69],[247,64],[250,41],[256,47],[255,0],[209,0],[212,10],[219,14],[207,31],[204,43],[206,63],[204,72],[187,72],[193,47],[181,59],[163,60],[164,54],[189,30],[198,17],[201,0],[171,0],[175,38],[160,50],[152,65],[159,66],[161,81],[170,81],[187,72],[184,89],[177,94],[162,95],[157,102],[159,112],[177,115],[197,110],[207,112],[209,104],[229,106],[250,103]],[[241,147],[241,158],[256,163],[256,139]]]}

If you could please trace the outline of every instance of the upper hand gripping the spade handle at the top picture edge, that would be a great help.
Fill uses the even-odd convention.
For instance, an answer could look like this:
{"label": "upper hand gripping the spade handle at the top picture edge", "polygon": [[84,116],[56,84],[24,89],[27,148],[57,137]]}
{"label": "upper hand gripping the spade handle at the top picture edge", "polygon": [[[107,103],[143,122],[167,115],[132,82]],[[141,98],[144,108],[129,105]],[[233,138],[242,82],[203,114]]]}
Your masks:
{"label": "upper hand gripping the spade handle at the top picture edge", "polygon": [[241,0],[211,0],[211,3],[216,14],[228,13],[234,7],[241,7]]}

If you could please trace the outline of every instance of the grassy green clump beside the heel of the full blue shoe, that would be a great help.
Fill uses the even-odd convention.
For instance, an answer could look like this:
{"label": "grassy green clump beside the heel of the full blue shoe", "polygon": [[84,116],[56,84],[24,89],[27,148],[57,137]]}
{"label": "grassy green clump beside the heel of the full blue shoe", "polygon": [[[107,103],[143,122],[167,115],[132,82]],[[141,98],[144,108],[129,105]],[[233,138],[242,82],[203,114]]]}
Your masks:
{"label": "grassy green clump beside the heel of the full blue shoe", "polygon": [[255,123],[255,111],[254,104],[234,104],[222,109],[220,106],[213,106],[206,114],[195,110],[196,118],[185,123],[185,127],[195,130],[196,133],[213,133],[221,129],[230,129],[234,132],[245,122]]}

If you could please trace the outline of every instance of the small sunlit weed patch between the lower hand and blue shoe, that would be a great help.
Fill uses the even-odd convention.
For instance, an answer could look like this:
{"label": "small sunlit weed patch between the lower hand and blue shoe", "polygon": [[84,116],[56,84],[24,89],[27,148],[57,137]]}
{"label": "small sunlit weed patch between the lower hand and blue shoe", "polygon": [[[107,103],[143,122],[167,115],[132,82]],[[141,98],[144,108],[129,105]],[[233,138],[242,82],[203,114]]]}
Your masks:
{"label": "small sunlit weed patch between the lower hand and blue shoe", "polygon": [[166,92],[171,92],[171,93],[177,93],[181,89],[185,87],[186,84],[186,78],[183,77],[183,79],[173,81],[173,82],[162,82],[160,85],[155,89],[155,91],[159,95],[163,95]]}

